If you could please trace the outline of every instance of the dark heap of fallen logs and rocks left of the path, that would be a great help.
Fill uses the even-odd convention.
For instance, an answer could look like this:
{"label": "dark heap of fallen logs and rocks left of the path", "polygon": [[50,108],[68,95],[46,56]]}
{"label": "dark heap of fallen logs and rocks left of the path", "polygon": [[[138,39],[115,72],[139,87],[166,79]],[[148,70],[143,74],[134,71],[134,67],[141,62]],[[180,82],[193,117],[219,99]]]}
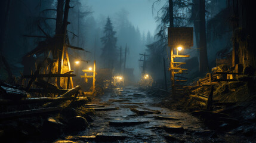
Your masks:
{"label": "dark heap of fallen logs and rocks left of the path", "polygon": [[[36,85],[44,82],[39,80]],[[51,83],[47,85],[48,88],[26,91],[22,86],[0,82],[1,141],[53,141],[63,133],[88,127],[94,106],[87,105],[90,98],[82,97],[81,87],[58,89]],[[36,95],[39,89],[48,96]],[[53,93],[58,96],[53,97]]]}

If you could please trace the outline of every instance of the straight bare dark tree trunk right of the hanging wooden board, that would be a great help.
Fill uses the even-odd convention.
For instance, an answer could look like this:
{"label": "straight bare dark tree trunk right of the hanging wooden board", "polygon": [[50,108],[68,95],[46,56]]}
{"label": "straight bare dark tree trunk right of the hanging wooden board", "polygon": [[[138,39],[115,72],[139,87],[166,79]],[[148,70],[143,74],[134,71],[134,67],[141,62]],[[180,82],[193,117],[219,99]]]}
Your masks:
{"label": "straight bare dark tree trunk right of the hanging wooden board", "polygon": [[205,28],[205,0],[199,1],[199,48],[200,48],[200,72],[206,73],[208,69],[208,55],[206,48],[206,28]]}

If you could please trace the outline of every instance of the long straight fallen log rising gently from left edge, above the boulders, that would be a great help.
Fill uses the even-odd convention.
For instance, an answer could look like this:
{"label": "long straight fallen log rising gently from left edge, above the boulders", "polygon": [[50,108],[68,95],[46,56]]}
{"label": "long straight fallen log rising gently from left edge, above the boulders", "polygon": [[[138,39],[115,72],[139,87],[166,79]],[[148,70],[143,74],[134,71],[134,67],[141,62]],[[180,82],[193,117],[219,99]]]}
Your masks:
{"label": "long straight fallen log rising gently from left edge, above the boulders", "polygon": [[53,112],[59,111],[61,109],[63,109],[63,107],[39,108],[39,109],[32,109],[32,110],[1,113],[0,120],[15,119],[17,117],[27,117],[27,116],[32,116],[32,115],[33,116],[42,115],[43,113],[53,113]]}

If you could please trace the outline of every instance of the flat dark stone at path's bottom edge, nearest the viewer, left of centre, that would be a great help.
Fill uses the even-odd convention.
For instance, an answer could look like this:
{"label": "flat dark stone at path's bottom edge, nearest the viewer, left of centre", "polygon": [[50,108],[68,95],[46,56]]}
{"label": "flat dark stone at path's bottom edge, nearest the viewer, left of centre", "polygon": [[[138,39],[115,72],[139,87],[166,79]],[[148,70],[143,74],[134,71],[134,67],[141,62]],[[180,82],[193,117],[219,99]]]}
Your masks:
{"label": "flat dark stone at path's bottom edge, nearest the viewer, left of centre", "polygon": [[125,133],[97,133],[96,141],[116,141],[125,139],[127,136]]}

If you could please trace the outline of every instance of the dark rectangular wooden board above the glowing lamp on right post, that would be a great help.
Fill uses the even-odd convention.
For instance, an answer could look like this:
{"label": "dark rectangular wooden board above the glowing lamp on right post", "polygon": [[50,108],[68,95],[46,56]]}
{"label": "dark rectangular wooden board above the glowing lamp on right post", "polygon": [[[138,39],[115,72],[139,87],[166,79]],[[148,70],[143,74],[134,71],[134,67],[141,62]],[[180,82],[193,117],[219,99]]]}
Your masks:
{"label": "dark rectangular wooden board above the glowing lamp on right post", "polygon": [[168,46],[193,46],[193,27],[169,27]]}

